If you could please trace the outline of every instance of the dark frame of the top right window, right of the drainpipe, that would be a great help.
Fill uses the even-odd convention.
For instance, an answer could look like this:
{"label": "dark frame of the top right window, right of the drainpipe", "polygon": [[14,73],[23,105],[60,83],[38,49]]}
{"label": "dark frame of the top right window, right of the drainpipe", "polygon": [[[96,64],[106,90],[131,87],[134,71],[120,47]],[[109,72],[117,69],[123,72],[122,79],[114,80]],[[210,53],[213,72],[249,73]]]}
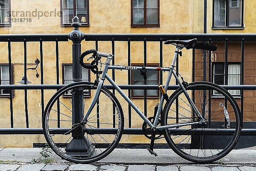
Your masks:
{"label": "dark frame of the top right window, right of the drainpipe", "polygon": [[[230,7],[231,0],[226,1],[226,17],[225,17],[225,26],[215,26],[214,25],[214,14],[215,14],[215,5],[214,2],[216,0],[212,0],[212,29],[244,29],[244,0],[241,0],[241,25],[240,26],[229,26],[229,9],[230,8],[238,8],[238,7]],[[239,1],[238,1],[239,4]]]}

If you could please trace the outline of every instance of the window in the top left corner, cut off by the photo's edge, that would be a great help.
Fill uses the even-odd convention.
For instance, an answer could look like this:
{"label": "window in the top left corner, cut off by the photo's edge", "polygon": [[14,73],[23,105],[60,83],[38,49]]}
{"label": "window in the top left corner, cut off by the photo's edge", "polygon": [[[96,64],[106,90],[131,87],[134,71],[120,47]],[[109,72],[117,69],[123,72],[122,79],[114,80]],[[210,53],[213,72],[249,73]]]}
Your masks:
{"label": "window in the top left corner, cut off by the photo's edge", "polygon": [[10,0],[0,0],[0,26],[11,26]]}

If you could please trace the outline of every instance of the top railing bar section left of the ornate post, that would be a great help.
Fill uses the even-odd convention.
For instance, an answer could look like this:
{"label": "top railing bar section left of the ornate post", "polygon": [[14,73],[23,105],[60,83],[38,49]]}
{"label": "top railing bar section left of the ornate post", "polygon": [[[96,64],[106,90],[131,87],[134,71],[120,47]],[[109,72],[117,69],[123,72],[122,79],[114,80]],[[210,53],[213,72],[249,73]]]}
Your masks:
{"label": "top railing bar section left of the ornate post", "polygon": [[68,34],[29,34],[29,35],[0,35],[0,42],[23,42],[23,41],[68,41]]}

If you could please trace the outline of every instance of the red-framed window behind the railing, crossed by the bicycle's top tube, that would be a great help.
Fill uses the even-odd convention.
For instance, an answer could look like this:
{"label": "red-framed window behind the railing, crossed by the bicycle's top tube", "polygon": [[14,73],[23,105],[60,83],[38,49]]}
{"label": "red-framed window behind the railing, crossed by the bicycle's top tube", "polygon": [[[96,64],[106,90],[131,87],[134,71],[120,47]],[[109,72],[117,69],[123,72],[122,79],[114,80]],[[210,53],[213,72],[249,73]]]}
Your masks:
{"label": "red-framed window behind the railing, crossed by the bicycle's top tube", "polygon": [[[143,64],[132,64],[132,66],[142,67]],[[158,64],[147,64],[150,67],[158,67]],[[147,85],[157,85],[159,83],[159,72],[147,70]],[[144,78],[140,75],[140,70],[132,70],[131,84],[143,85]],[[131,90],[131,97],[144,98],[144,90]],[[147,90],[147,98],[159,98],[159,90]]]}

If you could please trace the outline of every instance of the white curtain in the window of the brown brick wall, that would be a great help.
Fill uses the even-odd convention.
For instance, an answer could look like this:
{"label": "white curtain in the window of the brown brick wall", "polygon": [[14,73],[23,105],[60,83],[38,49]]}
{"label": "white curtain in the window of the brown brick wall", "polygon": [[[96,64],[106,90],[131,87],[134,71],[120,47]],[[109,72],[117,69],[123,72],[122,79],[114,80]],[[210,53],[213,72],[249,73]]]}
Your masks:
{"label": "white curtain in the window of the brown brick wall", "polygon": [[[228,65],[228,85],[240,85],[240,64]],[[228,90],[231,95],[240,95],[240,90]]]}

